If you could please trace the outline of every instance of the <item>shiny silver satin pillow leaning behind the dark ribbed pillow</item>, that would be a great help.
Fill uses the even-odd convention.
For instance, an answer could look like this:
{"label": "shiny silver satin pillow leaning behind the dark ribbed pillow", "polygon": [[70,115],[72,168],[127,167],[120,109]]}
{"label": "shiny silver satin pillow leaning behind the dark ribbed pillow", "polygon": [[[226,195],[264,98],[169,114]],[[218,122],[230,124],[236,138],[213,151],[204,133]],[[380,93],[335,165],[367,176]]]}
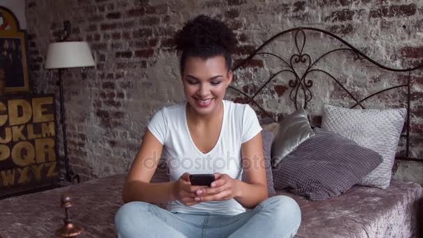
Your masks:
{"label": "shiny silver satin pillow leaning behind the dark ribbed pillow", "polygon": [[299,109],[284,117],[279,124],[278,134],[276,134],[271,148],[273,168],[283,157],[314,135],[304,109]]}

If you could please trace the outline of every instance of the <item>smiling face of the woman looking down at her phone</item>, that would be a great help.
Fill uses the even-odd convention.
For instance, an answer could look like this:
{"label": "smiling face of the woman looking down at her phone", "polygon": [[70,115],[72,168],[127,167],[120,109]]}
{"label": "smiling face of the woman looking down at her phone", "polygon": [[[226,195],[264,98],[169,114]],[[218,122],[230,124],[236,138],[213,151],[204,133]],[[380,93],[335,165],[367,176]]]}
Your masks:
{"label": "smiling face of the woman looking down at her phone", "polygon": [[232,81],[224,56],[202,59],[189,56],[182,75],[186,100],[201,116],[209,116],[219,109],[226,88]]}

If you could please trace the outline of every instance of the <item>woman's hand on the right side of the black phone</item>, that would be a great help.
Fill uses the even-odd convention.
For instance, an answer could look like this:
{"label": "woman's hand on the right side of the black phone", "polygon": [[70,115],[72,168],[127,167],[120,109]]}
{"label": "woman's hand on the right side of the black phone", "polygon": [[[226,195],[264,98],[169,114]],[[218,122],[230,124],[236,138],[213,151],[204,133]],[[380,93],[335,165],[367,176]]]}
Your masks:
{"label": "woman's hand on the right side of the black phone", "polygon": [[195,201],[223,201],[240,196],[241,188],[239,180],[235,180],[227,174],[215,173],[211,187],[195,191]]}

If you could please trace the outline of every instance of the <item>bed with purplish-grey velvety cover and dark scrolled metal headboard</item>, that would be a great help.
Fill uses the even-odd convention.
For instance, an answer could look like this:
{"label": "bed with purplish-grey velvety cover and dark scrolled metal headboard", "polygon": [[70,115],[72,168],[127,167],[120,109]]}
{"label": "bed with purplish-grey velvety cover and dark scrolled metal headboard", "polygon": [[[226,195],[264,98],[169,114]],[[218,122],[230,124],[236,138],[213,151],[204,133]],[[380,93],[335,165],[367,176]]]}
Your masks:
{"label": "bed with purplish-grey velvety cover and dark scrolled metal headboard", "polygon": [[[289,58],[289,64],[306,63],[308,65],[304,72],[312,70],[310,64],[307,64],[311,57],[305,54],[303,49],[305,45],[305,35],[310,31],[312,37],[323,38],[328,36],[332,40],[337,40],[335,45],[343,45],[338,50],[330,50],[327,54],[323,54],[324,58],[332,53],[340,51],[348,51],[354,60],[365,59],[372,65],[371,70],[375,68],[388,70],[388,72],[406,73],[405,84],[400,86],[388,86],[388,90],[403,88],[406,92],[406,100],[399,102],[405,104],[407,108],[406,129],[401,146],[399,149],[398,159],[417,160],[410,158],[410,77],[415,73],[421,73],[417,70],[421,66],[408,68],[403,70],[395,70],[387,68],[376,63],[371,58],[363,54],[358,49],[349,45],[348,42],[338,38],[336,35],[312,28],[297,28],[283,31],[273,38],[270,38],[263,45],[257,47],[253,54],[250,54],[245,60],[238,61],[235,70],[239,73],[239,77],[248,77],[253,80],[260,70],[242,70],[244,66],[254,68],[254,65],[262,64],[257,61],[257,56],[272,56],[274,53],[265,53],[262,51],[266,45],[277,40],[282,35],[288,35],[294,38],[294,54]],[[313,48],[314,49],[314,48]],[[278,56],[280,57],[280,56]],[[277,57],[276,57],[277,58]],[[281,58],[281,57],[280,57]],[[305,59],[304,58],[308,58]],[[321,58],[317,58],[320,60]],[[311,64],[312,65],[312,64]],[[271,67],[271,63],[268,65]],[[260,96],[262,90],[266,90],[266,85],[271,80],[276,79],[275,74],[268,73],[269,79],[259,79],[259,84],[250,84],[241,86],[240,81],[234,82],[232,89],[241,94],[231,95],[235,101],[246,102],[254,106],[257,114],[260,116],[270,116],[275,120],[278,116],[283,116],[280,111],[269,112],[269,105],[262,106],[262,100],[255,100]],[[298,76],[299,75],[299,76]],[[312,85],[313,82],[302,77],[300,74],[294,79],[289,80],[289,86],[292,90],[285,94],[285,101],[292,100],[294,103],[290,106],[307,107],[314,109],[317,104],[312,102]],[[304,75],[304,73],[303,73]],[[333,75],[330,74],[330,77]],[[335,77],[333,79],[337,80]],[[340,80],[336,81],[339,90],[346,90]],[[259,86],[257,86],[259,85]],[[239,88],[243,88],[240,90]],[[251,91],[251,88],[254,88]],[[285,88],[284,90],[289,90]],[[404,91],[403,90],[403,91]],[[379,97],[380,93],[386,89],[378,90],[378,92],[369,93],[369,97],[362,95],[356,97],[353,93],[346,90],[344,94],[351,95],[353,106],[365,107],[365,100],[377,98],[382,100],[385,97]],[[264,91],[266,92],[266,91]],[[263,93],[263,92],[262,92]],[[271,93],[264,93],[271,95]],[[362,98],[362,99],[360,99]],[[278,101],[276,104],[280,103]],[[340,102],[343,104],[344,102]],[[369,103],[372,105],[372,102]],[[345,105],[345,104],[344,104]],[[351,106],[351,104],[349,104]],[[318,111],[318,110],[317,110]],[[310,120],[319,123],[319,113],[311,113]],[[168,181],[166,170],[158,170],[154,175],[152,182]],[[33,193],[19,197],[7,198],[0,200],[0,236],[1,237],[55,237],[56,229],[63,225],[64,209],[60,207],[61,196],[63,193],[70,194],[73,207],[70,208],[72,221],[81,225],[84,231],[78,237],[115,237],[113,226],[113,216],[118,208],[123,204],[121,199],[122,184],[125,180],[125,174],[104,177],[81,184],[74,184],[68,187]],[[301,196],[289,193],[287,190],[276,191],[278,195],[285,195],[294,198],[301,207],[303,221],[298,230],[296,237],[421,237],[423,235],[423,188],[420,184],[413,182],[400,182],[392,180],[388,189],[377,189],[373,187],[353,186],[351,189],[343,193],[341,196],[320,201],[310,201]],[[165,206],[165,205],[161,205]]]}

